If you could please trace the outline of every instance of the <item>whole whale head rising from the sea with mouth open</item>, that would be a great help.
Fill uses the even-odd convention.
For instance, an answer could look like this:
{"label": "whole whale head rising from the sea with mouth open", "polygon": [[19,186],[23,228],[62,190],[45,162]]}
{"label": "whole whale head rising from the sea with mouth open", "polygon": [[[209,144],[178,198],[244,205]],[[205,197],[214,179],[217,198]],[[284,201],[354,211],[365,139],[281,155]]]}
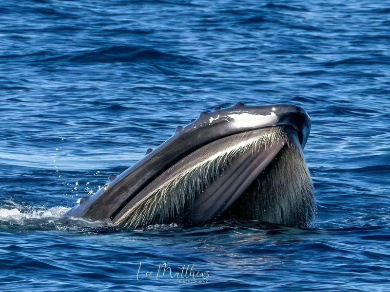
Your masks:
{"label": "whole whale head rising from the sea with mouth open", "polygon": [[124,229],[253,220],[310,227],[310,128],[306,110],[292,104],[203,111],[65,215]]}

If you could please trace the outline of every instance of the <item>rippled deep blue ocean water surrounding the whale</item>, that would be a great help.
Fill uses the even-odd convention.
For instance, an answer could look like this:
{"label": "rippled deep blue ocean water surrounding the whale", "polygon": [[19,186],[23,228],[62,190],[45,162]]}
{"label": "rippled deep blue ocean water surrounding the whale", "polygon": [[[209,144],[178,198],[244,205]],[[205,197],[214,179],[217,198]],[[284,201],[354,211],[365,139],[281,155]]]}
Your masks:
{"label": "rippled deep blue ocean water surrounding the whale", "polygon": [[[0,36],[1,292],[389,291],[390,1],[5,0]],[[312,228],[62,216],[238,101],[309,112]]]}

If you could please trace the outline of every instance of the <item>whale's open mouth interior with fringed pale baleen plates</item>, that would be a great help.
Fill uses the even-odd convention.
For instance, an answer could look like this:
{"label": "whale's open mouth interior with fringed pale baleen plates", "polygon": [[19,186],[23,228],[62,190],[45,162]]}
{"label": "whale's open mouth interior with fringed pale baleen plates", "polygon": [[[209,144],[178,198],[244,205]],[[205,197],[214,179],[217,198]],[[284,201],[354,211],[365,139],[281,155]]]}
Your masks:
{"label": "whale's open mouth interior with fringed pale baleen plates", "polygon": [[289,126],[210,142],[162,172],[113,218],[124,228],[220,219],[309,226],[313,186],[298,133]]}

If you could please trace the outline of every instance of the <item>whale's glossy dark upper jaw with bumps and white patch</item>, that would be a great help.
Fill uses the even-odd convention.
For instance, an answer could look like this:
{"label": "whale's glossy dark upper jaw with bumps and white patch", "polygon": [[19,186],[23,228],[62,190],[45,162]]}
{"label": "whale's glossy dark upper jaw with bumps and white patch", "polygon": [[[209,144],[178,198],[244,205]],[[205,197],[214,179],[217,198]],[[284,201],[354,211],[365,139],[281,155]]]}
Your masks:
{"label": "whale's glossy dark upper jaw with bumps and white patch", "polygon": [[273,126],[294,128],[304,147],[311,122],[305,110],[294,105],[245,106],[202,112],[198,119],[119,174],[97,193],[83,198],[68,211],[68,216],[89,219],[113,219],[139,192],[162,172],[201,146],[222,137]]}

